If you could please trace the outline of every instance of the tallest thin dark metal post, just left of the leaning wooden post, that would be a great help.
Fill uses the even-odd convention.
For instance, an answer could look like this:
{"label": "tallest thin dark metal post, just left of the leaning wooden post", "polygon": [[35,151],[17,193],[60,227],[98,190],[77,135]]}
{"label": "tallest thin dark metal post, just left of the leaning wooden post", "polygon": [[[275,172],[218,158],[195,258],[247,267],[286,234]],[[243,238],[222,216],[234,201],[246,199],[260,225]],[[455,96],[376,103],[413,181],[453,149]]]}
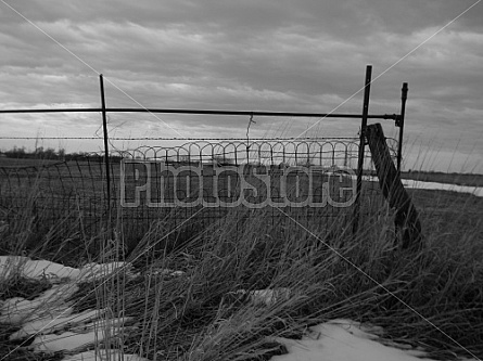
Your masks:
{"label": "tallest thin dark metal post, just left of the leaning wooden post", "polygon": [[360,214],[360,191],[363,189],[363,169],[364,169],[364,149],[366,146],[366,127],[367,118],[369,114],[369,95],[370,95],[370,82],[372,77],[372,65],[366,67],[366,82],[364,86],[364,105],[363,105],[363,118],[360,121],[360,134],[359,134],[359,154],[357,163],[357,189],[356,201],[354,205],[354,218],[353,218],[353,233],[357,233],[359,228],[359,214]]}

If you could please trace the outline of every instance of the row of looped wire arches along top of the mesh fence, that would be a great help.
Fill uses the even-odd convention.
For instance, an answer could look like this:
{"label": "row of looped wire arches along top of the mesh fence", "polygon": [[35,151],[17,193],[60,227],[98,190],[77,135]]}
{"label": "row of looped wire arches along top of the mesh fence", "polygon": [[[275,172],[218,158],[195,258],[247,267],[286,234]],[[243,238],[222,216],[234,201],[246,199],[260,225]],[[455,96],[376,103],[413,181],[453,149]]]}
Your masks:
{"label": "row of looped wire arches along top of the mesh fence", "polygon": [[[387,143],[395,157],[396,140],[387,139]],[[358,147],[357,138],[254,139],[250,142],[230,139],[216,142],[199,140],[176,146],[143,145],[115,154],[122,158],[186,164],[355,167]]]}

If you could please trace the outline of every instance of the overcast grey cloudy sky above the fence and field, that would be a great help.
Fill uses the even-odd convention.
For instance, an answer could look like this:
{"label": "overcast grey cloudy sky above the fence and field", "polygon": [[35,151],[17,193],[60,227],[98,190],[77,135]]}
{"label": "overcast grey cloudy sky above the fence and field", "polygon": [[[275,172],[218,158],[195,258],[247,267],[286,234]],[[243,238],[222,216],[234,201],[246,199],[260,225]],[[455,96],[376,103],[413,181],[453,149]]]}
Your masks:
{"label": "overcast grey cloudy sky above the fence and field", "polygon": [[[406,169],[483,173],[480,1],[0,0],[0,108],[98,107],[103,74],[110,107],[360,113],[371,64],[369,113],[398,113],[409,83]],[[111,114],[109,128],[117,138],[244,138],[247,120]],[[355,119],[255,120],[253,138],[359,128]],[[42,138],[98,138],[100,126],[98,113],[1,114],[0,149],[96,151],[100,140]]]}

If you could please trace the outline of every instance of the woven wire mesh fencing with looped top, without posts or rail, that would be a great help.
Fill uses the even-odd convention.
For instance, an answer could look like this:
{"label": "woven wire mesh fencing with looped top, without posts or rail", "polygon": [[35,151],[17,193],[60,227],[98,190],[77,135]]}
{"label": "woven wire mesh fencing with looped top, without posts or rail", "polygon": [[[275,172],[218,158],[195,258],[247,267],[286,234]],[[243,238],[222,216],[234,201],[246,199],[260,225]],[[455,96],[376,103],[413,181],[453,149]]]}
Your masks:
{"label": "woven wire mesh fencing with looped top, without posts or rail", "polygon": [[[392,139],[387,139],[387,143],[395,157],[397,143]],[[242,220],[258,217],[260,212],[264,212],[264,219],[280,225],[293,221],[290,219],[293,218],[301,223],[316,224],[319,230],[330,230],[334,222],[338,222],[338,227],[344,228],[351,223],[353,206],[296,207],[292,204],[296,201],[296,194],[292,195],[292,198],[289,194],[289,202],[284,207],[269,206],[263,209],[246,209],[243,206],[227,208],[200,204],[190,207],[153,207],[150,202],[145,202],[145,191],[141,192],[140,196],[144,201],[141,199],[139,205],[125,207],[120,204],[120,196],[124,189],[126,197],[124,201],[128,203],[135,201],[129,198],[129,196],[134,196],[134,190],[142,189],[149,181],[153,188],[152,194],[160,196],[164,192],[167,203],[173,203],[174,199],[189,201],[190,197],[193,197],[190,192],[196,188],[201,192],[196,196],[201,196],[202,199],[209,203],[209,199],[213,201],[213,189],[200,189],[198,173],[188,171],[183,176],[183,179],[191,184],[191,191],[187,191],[188,189],[182,190],[186,184],[181,189],[175,190],[173,188],[174,178],[162,172],[180,169],[180,167],[185,167],[183,169],[196,168],[203,172],[203,184],[209,182],[213,184],[215,170],[220,172],[226,167],[243,167],[244,171],[249,172],[258,172],[264,169],[274,181],[280,179],[277,175],[283,169],[296,166],[298,169],[323,167],[327,170],[319,181],[327,183],[328,189],[323,189],[321,183],[315,183],[314,197],[316,201],[320,201],[325,196],[323,192],[328,191],[332,198],[336,197],[339,202],[346,202],[346,197],[349,195],[341,195],[340,188],[341,184],[348,185],[347,182],[351,179],[339,177],[336,170],[355,169],[358,147],[359,140],[354,138],[251,141],[238,139],[200,140],[176,146],[140,146],[135,150],[118,151],[112,153],[110,157],[111,199],[107,199],[105,158],[100,154],[63,160],[17,159],[14,166],[0,166],[1,218],[10,221],[28,207],[31,209],[31,222],[39,233],[48,232],[62,220],[63,227],[78,230],[79,233],[89,236],[94,235],[110,222],[132,242],[139,241],[153,222],[160,222],[160,220],[166,228],[166,232],[186,223],[186,227],[182,228],[183,232],[191,233],[194,229],[205,229],[207,224],[228,214]],[[150,168],[150,180],[148,180],[147,164]],[[122,168],[126,165],[128,167],[124,168],[124,173],[122,173]],[[365,169],[361,190],[363,216],[386,209],[377,179],[373,177],[368,152],[366,152]],[[330,173],[329,170],[335,172]],[[165,182],[161,188],[160,182],[163,177]],[[223,202],[231,202],[237,185],[231,183],[229,177],[218,177],[216,181],[217,197]],[[297,181],[303,181],[303,177],[293,172],[289,173],[285,181],[289,185],[293,185]],[[251,183],[256,188],[254,182]],[[270,185],[270,191],[275,202],[277,202],[277,197],[279,197],[278,201],[282,201],[280,199],[280,185]],[[260,192],[263,193],[258,190],[258,193]],[[256,203],[256,199],[253,202]],[[187,222],[187,220],[189,221]]]}

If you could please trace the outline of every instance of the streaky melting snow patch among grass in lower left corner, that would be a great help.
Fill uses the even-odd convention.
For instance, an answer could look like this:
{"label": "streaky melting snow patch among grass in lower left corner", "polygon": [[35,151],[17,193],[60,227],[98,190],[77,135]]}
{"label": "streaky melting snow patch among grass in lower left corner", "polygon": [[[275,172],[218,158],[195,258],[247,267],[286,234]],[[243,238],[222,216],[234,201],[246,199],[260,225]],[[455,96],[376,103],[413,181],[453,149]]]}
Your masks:
{"label": "streaky melting snow patch among grass in lower left corner", "polygon": [[[11,340],[35,336],[27,346],[34,352],[67,351],[65,360],[125,360],[147,361],[148,359],[124,354],[119,350],[96,350],[81,352],[94,346],[107,335],[115,337],[131,318],[107,318],[105,310],[87,310],[73,314],[73,304],[67,302],[78,289],[78,283],[92,282],[116,271],[135,275],[131,265],[126,262],[88,263],[80,269],[64,267],[47,260],[31,260],[28,257],[1,256],[0,282],[10,278],[47,280],[50,289],[28,300],[14,297],[0,301],[0,323],[20,326],[10,335]],[[97,353],[96,353],[97,352]]]}

